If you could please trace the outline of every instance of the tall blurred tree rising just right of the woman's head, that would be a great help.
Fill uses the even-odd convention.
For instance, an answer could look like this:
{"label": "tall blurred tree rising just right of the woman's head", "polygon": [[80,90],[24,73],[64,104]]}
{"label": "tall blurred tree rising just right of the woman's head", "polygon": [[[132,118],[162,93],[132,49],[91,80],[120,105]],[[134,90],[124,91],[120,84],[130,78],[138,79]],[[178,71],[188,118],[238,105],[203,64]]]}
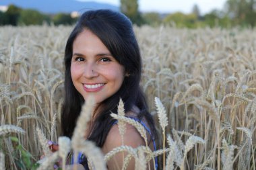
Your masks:
{"label": "tall blurred tree rising just right of the woman's head", "polygon": [[143,18],[139,13],[139,5],[137,0],[121,0],[121,12],[131,19],[133,24],[140,26],[143,24]]}

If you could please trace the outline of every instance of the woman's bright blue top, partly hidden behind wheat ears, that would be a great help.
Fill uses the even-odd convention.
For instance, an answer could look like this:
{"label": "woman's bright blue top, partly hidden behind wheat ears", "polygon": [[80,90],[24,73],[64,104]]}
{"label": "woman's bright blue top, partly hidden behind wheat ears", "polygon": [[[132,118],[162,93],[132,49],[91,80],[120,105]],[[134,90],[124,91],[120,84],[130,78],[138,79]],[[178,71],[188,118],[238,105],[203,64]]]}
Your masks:
{"label": "woman's bright blue top, partly hidden behind wheat ears", "polygon": [[[125,116],[127,118],[131,118],[137,122],[139,122],[144,128],[146,128],[146,130],[148,131],[148,133],[150,134],[150,137],[151,137],[151,140],[153,141],[153,145],[154,145],[154,150],[156,151],[156,142],[151,134],[151,131],[150,131],[150,128],[148,126],[146,126],[146,124],[144,122],[142,122],[141,120],[139,120],[138,118],[134,118],[134,117],[131,117],[131,116]],[[115,122],[113,123],[114,124],[117,124],[117,120],[115,120]],[[77,163],[82,163],[84,161],[84,155],[82,153],[78,153],[78,158],[77,158]],[[71,164],[73,164],[74,162],[74,158],[72,157],[71,158]],[[155,165],[156,165],[156,169],[158,169],[158,159],[157,157],[155,157]],[[86,167],[85,167],[86,168]],[[86,168],[87,170],[87,168]]]}

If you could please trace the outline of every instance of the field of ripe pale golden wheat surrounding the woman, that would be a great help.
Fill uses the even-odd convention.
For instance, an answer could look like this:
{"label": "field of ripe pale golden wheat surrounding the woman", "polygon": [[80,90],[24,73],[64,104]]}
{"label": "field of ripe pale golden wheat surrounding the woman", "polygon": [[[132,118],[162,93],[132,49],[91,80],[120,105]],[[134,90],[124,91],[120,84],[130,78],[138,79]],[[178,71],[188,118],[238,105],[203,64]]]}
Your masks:
{"label": "field of ripe pale golden wheat surrounding the woman", "polygon": [[[90,102],[73,138],[59,138],[63,54],[71,29],[0,27],[0,169],[36,169],[42,153],[47,157],[38,169],[51,169],[72,148],[88,156],[91,169],[106,169],[110,157],[125,151],[125,163],[133,157],[136,169],[158,157],[159,169],[255,170],[256,30],[134,27],[158,151],[121,146],[102,155],[79,135]],[[119,112],[119,122],[136,126],[123,117],[122,103]],[[143,128],[136,128],[143,136]],[[50,153],[47,140],[59,141],[60,151]]]}

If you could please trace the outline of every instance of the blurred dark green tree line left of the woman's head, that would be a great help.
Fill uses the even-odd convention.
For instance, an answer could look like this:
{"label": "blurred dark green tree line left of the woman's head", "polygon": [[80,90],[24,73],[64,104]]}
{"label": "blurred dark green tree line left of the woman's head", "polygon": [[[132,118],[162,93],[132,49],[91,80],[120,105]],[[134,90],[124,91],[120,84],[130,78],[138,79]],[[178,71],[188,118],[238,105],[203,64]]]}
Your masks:
{"label": "blurred dark green tree line left of the woman's head", "polygon": [[15,5],[9,5],[7,11],[0,11],[0,26],[22,26],[22,25],[41,25],[41,24],[64,24],[71,25],[76,22],[76,17],[71,17],[69,13],[57,13],[46,15],[34,9],[21,9]]}

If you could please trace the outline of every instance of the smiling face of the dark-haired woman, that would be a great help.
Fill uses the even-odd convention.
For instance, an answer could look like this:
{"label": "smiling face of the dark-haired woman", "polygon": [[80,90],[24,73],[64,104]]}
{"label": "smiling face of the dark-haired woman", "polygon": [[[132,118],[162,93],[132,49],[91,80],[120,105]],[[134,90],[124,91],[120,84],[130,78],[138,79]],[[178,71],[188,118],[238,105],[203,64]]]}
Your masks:
{"label": "smiling face of the dark-haired woman", "polygon": [[73,42],[71,79],[75,89],[96,104],[115,94],[121,87],[125,69],[90,30],[85,29]]}

